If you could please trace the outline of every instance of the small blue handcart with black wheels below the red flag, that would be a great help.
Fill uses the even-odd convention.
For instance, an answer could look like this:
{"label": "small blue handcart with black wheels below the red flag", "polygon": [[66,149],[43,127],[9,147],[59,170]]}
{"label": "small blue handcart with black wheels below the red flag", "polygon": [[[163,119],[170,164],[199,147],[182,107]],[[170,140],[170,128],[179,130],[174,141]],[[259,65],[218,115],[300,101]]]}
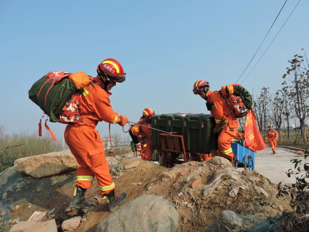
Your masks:
{"label": "small blue handcart with black wheels below the red flag", "polygon": [[245,170],[254,172],[255,152],[237,142],[232,142],[231,147],[234,153],[235,167],[243,167]]}

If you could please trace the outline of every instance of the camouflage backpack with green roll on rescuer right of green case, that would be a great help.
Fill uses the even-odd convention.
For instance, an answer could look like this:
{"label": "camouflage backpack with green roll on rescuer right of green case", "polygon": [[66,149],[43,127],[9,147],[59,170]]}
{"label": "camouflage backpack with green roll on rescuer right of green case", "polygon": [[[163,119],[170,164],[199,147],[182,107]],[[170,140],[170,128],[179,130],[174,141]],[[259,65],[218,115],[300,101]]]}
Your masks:
{"label": "camouflage backpack with green roll on rescuer right of green case", "polygon": [[226,99],[226,103],[231,109],[231,114],[236,118],[242,118],[249,113],[252,107],[252,96],[240,84],[222,86],[219,92]]}

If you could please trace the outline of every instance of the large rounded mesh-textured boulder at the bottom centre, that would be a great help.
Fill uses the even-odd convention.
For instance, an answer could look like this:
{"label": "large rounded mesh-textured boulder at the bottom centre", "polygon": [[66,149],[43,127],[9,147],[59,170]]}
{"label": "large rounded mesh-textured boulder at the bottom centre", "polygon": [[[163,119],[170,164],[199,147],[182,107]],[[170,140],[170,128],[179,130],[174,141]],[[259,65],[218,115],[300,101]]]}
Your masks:
{"label": "large rounded mesh-textured boulder at the bottom centre", "polygon": [[172,232],[177,230],[179,220],[175,207],[162,196],[141,195],[108,215],[95,232]]}

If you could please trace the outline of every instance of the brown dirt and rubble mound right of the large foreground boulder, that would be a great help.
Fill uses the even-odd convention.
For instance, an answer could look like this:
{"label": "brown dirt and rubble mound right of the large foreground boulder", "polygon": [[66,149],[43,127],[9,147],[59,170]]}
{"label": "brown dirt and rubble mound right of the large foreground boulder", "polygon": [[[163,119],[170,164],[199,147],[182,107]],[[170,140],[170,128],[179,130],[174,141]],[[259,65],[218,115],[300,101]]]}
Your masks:
{"label": "brown dirt and rubble mound right of the large foreground boulder", "polygon": [[[290,197],[276,198],[277,186],[270,183],[265,177],[258,173],[242,171],[241,175],[253,179],[254,184],[239,188],[235,197],[229,195],[231,186],[215,188],[213,193],[206,199],[203,193],[205,186],[209,185],[216,173],[222,170],[221,165],[213,165],[209,161],[188,162],[168,170],[153,178],[146,186],[143,194],[161,195],[169,200],[177,208],[181,216],[181,226],[185,231],[202,231],[209,226],[223,210],[231,210],[246,216],[268,217],[281,213],[283,209],[290,209]],[[224,182],[230,176],[223,175]],[[266,197],[257,189],[263,188]],[[259,188],[260,187],[260,188]]]}

